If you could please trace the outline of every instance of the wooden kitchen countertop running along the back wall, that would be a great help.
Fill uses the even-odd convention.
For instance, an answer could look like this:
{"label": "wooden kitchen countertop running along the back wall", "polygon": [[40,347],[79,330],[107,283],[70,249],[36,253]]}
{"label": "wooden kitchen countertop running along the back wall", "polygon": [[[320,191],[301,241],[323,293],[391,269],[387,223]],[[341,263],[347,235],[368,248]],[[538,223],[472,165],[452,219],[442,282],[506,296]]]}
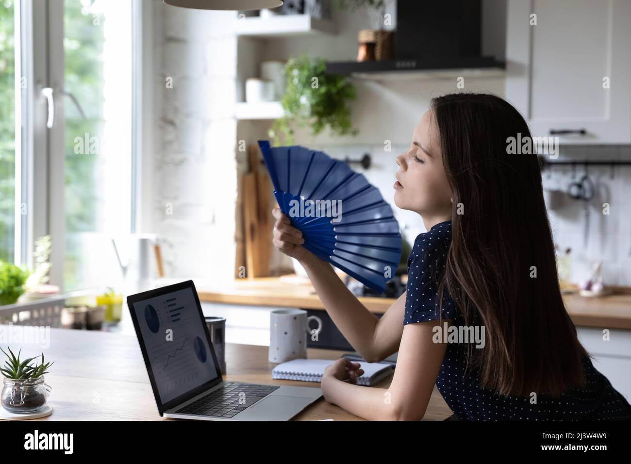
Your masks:
{"label": "wooden kitchen countertop running along the back wall", "polygon": [[[300,307],[322,309],[308,278],[296,275],[236,279],[221,289],[198,285],[203,302],[244,304],[254,306]],[[616,289],[618,293],[599,298],[584,298],[579,294],[563,295],[565,307],[577,326],[631,330],[631,290]],[[392,298],[359,297],[372,312],[386,312],[394,303]]]}

